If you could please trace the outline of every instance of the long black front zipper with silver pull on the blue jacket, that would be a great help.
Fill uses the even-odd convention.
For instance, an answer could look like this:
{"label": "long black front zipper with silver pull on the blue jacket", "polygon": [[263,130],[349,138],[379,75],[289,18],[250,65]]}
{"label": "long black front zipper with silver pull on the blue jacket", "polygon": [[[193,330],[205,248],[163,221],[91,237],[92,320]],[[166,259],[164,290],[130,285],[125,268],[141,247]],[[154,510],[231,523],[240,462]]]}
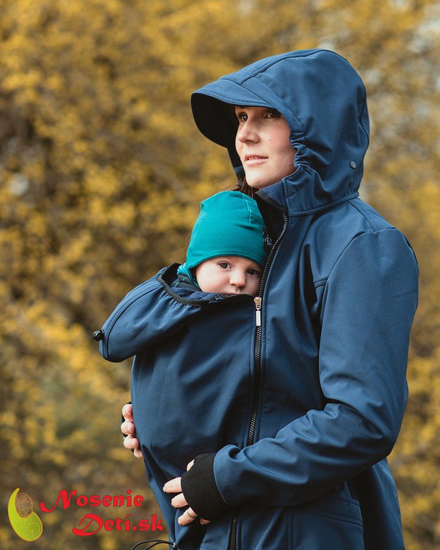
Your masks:
{"label": "long black front zipper with silver pull on the blue jacket", "polygon": [[[273,244],[270,254],[267,258],[265,269],[263,272],[263,276],[261,278],[261,285],[260,290],[258,293],[258,296],[254,298],[255,303],[255,326],[256,326],[256,336],[255,336],[255,350],[254,350],[254,357],[255,357],[255,384],[254,384],[254,400],[252,401],[252,416],[251,416],[251,423],[249,427],[249,434],[248,434],[248,445],[252,445],[254,443],[254,436],[255,436],[255,422],[257,417],[257,408],[258,408],[258,394],[260,391],[260,374],[261,374],[261,304],[263,300],[263,290],[266,285],[266,279],[267,279],[267,273],[269,271],[269,268],[271,266],[273,256],[275,254],[275,251],[278,248],[279,241],[282,239],[284,233],[287,230],[288,225],[288,217],[285,212],[283,212],[283,218],[284,218],[284,227],[279,235],[278,239]],[[232,529],[230,532],[230,538],[229,538],[229,546],[228,550],[237,550],[237,515],[232,520]]]}

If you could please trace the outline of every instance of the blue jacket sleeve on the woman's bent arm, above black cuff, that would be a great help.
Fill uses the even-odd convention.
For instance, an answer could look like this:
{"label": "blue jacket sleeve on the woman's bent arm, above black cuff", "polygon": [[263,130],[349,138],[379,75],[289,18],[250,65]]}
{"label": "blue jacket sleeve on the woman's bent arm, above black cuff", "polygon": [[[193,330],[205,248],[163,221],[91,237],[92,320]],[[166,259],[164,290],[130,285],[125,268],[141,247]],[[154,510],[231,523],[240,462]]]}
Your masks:
{"label": "blue jacket sleeve on the woman's bent arm, above black cuff", "polygon": [[415,254],[398,229],[351,240],[322,300],[318,367],[326,405],[274,437],[220,449],[213,473],[226,504],[306,502],[386,458],[408,398],[418,277]]}

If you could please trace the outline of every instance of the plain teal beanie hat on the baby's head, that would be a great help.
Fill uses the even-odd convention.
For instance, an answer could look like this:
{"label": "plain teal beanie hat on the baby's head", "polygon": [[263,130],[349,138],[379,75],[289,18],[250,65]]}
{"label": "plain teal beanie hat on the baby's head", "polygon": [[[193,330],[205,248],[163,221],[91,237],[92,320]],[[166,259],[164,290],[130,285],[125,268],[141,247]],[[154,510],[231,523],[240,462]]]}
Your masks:
{"label": "plain teal beanie hat on the baby's head", "polygon": [[185,273],[200,288],[191,269],[217,256],[241,256],[261,267],[265,223],[255,199],[240,191],[221,191],[202,201],[186,252],[186,262],[177,274]]}

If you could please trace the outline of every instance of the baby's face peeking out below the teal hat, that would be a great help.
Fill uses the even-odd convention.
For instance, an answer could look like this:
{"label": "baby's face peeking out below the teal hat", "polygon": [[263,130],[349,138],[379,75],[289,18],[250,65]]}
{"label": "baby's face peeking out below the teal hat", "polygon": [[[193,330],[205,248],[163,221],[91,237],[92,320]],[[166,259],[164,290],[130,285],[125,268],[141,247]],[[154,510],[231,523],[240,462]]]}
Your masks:
{"label": "baby's face peeking out below the teal hat", "polygon": [[256,296],[261,282],[261,267],[241,256],[217,256],[199,263],[194,275],[202,292],[252,294]]}

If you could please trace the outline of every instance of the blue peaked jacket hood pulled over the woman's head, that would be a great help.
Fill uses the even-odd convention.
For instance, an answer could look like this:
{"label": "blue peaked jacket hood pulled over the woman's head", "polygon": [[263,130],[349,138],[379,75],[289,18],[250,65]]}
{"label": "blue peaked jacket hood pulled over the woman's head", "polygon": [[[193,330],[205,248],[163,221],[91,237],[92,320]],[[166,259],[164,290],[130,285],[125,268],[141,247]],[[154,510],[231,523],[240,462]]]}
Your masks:
{"label": "blue peaked jacket hood pulled over the woman's head", "polygon": [[370,125],[365,86],[344,57],[321,49],[287,52],[193,92],[197,128],[227,148],[240,178],[238,120],[228,103],[272,107],[289,125],[296,171],[257,191],[261,199],[290,215],[303,215],[359,195]]}

